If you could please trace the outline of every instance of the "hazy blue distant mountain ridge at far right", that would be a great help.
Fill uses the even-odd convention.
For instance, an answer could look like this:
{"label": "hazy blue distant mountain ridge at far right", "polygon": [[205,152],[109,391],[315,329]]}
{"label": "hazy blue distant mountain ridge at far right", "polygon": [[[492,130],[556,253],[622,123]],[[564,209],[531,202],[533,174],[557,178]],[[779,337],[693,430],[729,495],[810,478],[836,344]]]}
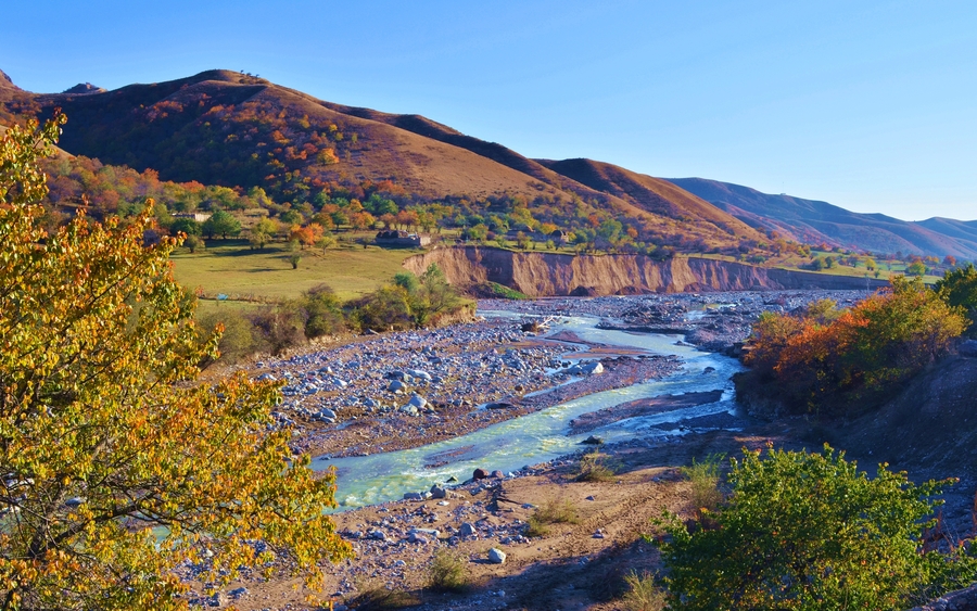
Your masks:
{"label": "hazy blue distant mountain ridge at far right", "polygon": [[718,180],[667,180],[752,227],[777,231],[787,239],[879,253],[977,259],[977,221],[906,221],[883,214],[854,213],[827,202],[761,193]]}

